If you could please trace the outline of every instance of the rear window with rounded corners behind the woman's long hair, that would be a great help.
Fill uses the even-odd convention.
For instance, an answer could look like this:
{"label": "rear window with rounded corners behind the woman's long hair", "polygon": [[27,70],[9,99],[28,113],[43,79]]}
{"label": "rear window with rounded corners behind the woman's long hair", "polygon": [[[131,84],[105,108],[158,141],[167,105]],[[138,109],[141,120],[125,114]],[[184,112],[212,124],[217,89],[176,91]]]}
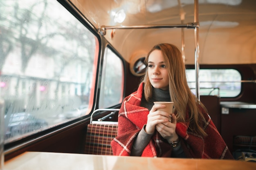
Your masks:
{"label": "rear window with rounded corners behind the woman's long hair", "polygon": [[[195,94],[195,70],[187,69],[189,87]],[[200,95],[236,97],[241,92],[241,74],[234,69],[200,69]]]}

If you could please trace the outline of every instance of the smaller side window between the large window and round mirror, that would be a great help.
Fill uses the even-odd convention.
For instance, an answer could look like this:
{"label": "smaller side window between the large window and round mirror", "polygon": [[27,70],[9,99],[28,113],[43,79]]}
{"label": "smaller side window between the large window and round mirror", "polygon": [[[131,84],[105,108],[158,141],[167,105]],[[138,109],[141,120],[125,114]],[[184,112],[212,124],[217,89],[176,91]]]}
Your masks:
{"label": "smaller side window between the large window and round mirror", "polygon": [[124,66],[110,48],[104,52],[99,108],[108,108],[122,102],[124,89]]}

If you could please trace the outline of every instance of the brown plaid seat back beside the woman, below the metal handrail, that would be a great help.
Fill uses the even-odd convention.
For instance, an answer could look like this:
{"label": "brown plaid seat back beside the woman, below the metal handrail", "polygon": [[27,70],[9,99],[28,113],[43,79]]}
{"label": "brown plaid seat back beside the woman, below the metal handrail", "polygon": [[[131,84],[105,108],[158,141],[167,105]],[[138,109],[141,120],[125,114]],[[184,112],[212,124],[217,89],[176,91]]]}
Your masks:
{"label": "brown plaid seat back beside the woman, below the metal handrail", "polygon": [[117,124],[88,124],[85,153],[113,155],[110,142],[117,136]]}

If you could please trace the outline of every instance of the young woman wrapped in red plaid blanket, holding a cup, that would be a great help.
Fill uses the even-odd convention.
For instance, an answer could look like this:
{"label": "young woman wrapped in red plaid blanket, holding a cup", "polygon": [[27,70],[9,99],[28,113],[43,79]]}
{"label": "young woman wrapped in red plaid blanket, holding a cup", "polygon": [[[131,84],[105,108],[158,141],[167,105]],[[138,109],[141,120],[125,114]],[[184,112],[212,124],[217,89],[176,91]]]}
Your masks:
{"label": "young woman wrapped in red plaid blanket, holding a cup", "polygon": [[[233,159],[207,110],[189,89],[180,50],[157,44],[145,62],[142,83],[121,105],[113,154]],[[173,113],[160,111],[166,106],[155,101],[174,102]]]}

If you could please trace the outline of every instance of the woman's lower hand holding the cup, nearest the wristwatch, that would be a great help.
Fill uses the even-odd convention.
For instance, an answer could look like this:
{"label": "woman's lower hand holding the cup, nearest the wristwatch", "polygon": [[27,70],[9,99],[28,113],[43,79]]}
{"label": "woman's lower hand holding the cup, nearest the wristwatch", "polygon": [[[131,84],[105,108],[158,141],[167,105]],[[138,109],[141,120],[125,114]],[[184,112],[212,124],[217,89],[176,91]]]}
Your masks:
{"label": "woman's lower hand holding the cup, nearest the wristwatch", "polygon": [[175,131],[177,118],[175,114],[171,114],[171,122],[159,123],[155,126],[155,129],[160,133],[160,135],[166,139],[169,143],[177,140],[179,137]]}

